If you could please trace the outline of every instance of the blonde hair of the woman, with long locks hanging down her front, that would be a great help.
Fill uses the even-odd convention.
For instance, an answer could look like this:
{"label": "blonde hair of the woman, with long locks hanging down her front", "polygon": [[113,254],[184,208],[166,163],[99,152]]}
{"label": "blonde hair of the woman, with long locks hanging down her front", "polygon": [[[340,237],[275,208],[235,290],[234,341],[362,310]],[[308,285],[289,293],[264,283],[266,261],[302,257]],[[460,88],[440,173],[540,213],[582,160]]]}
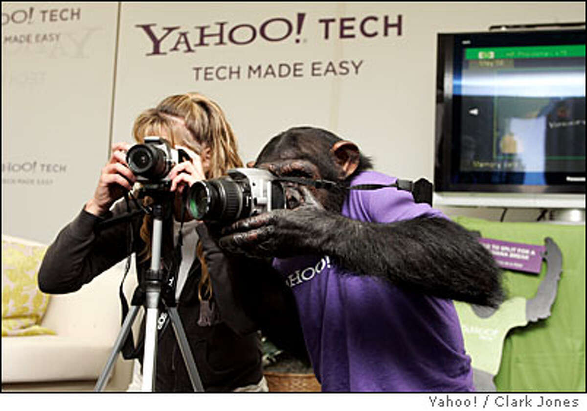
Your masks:
{"label": "blonde hair of the woman, with long locks hanging down her front", "polygon": [[[141,113],[133,126],[134,139],[142,143],[145,136],[167,136],[172,146],[183,145],[195,153],[210,148],[210,168],[206,178],[218,178],[231,168],[242,167],[238,155],[237,139],[217,103],[198,93],[185,93],[169,96],[156,108]],[[150,199],[146,198],[146,201]],[[141,226],[140,236],[146,243],[144,259],[150,257],[151,216],[146,215]],[[198,285],[198,297],[212,295],[212,283],[203,256],[201,243],[198,243],[197,256],[200,259],[202,275]]]}

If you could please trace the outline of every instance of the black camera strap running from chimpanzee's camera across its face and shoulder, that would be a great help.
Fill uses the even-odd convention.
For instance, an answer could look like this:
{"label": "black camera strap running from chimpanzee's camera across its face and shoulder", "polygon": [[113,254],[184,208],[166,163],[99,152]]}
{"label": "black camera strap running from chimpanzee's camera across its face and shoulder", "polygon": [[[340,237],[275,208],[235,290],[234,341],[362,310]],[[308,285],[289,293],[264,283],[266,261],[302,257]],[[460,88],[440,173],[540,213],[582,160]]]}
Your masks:
{"label": "black camera strap running from chimpanzee's camera across its face and shoulder", "polygon": [[425,178],[421,178],[416,182],[411,180],[397,179],[393,184],[358,184],[354,186],[345,186],[343,183],[330,180],[312,180],[301,177],[280,177],[276,181],[292,182],[303,185],[311,185],[315,188],[323,188],[327,190],[379,190],[382,188],[397,188],[398,190],[409,191],[416,203],[427,203],[432,205],[432,188],[433,185]]}

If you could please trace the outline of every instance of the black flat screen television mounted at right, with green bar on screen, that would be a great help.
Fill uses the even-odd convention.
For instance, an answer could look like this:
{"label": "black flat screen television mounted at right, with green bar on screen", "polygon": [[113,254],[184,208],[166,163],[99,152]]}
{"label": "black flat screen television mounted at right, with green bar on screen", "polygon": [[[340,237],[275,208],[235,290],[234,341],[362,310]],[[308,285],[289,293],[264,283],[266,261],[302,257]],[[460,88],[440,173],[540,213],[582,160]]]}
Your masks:
{"label": "black flat screen television mounted at right, with green bar on screen", "polygon": [[585,208],[585,29],[437,36],[434,202]]}

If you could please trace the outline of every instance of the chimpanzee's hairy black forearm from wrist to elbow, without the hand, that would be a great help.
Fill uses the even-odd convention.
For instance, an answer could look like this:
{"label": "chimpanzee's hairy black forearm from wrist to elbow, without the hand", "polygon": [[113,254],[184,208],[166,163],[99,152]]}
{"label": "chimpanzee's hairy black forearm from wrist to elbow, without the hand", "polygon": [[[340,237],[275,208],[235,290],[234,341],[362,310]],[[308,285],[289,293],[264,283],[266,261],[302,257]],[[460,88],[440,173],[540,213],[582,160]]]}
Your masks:
{"label": "chimpanzee's hairy black forearm from wrist to elbow, without the hand", "polygon": [[[501,303],[501,272],[494,259],[456,223],[421,217],[381,224],[340,217],[323,245],[350,271],[439,297],[488,306]],[[345,234],[349,241],[336,242]]]}

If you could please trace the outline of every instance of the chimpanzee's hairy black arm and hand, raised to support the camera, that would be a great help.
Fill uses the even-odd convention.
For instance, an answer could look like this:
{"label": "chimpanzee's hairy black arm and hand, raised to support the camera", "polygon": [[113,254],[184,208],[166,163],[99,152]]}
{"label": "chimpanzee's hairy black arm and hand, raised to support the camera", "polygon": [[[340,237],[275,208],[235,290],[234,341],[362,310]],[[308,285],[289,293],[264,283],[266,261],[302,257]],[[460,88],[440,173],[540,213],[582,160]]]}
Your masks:
{"label": "chimpanzee's hairy black arm and hand, raised to support the camera", "polygon": [[443,218],[394,223],[352,220],[313,205],[274,210],[234,223],[223,248],[288,257],[325,253],[357,275],[372,275],[442,298],[497,306],[501,272],[483,246]]}

